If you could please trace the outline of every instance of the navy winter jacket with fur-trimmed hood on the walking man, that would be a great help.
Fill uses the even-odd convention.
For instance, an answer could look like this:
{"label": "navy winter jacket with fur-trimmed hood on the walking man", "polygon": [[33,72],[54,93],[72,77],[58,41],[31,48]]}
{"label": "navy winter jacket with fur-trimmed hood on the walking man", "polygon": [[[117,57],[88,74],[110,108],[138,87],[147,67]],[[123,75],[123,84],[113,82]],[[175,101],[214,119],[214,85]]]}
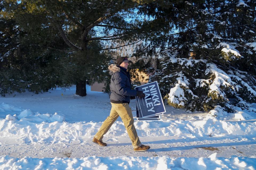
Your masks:
{"label": "navy winter jacket with fur-trimmed hood on the walking man", "polygon": [[115,64],[109,66],[110,81],[110,102],[129,103],[130,96],[136,96],[137,91],[131,90],[131,78],[125,68]]}

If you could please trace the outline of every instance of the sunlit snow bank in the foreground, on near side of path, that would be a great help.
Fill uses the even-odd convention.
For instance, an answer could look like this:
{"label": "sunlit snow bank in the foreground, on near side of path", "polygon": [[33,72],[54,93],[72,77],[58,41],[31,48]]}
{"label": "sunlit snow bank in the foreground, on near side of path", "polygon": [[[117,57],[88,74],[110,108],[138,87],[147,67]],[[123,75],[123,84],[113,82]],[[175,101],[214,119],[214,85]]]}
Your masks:
{"label": "sunlit snow bank in the foreground, on near side of path", "polygon": [[231,158],[171,158],[163,157],[85,157],[85,158],[31,158],[0,156],[0,169],[255,169],[256,159]]}

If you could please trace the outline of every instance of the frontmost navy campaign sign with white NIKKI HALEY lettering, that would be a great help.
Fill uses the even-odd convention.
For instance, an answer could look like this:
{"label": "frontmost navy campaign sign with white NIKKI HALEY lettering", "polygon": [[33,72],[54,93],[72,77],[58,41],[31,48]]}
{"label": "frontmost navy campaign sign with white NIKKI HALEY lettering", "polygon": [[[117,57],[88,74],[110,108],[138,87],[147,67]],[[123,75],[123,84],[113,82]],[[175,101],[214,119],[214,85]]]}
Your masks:
{"label": "frontmost navy campaign sign with white NIKKI HALEY lettering", "polygon": [[137,91],[143,91],[145,98],[138,98],[138,109],[141,111],[140,117],[152,117],[165,113],[165,106],[161,97],[157,81],[135,87]]}

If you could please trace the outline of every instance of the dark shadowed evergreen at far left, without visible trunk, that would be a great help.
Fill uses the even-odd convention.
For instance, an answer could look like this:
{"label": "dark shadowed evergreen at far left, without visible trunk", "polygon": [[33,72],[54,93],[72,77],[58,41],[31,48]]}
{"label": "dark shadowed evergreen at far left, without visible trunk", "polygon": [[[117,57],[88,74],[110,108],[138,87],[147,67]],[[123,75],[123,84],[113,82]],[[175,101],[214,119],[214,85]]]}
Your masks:
{"label": "dark shadowed evergreen at far left, without visible trunk", "polygon": [[62,85],[59,59],[63,53],[44,49],[31,41],[31,37],[19,30],[13,19],[1,18],[1,22],[1,95],[25,89],[45,92]]}

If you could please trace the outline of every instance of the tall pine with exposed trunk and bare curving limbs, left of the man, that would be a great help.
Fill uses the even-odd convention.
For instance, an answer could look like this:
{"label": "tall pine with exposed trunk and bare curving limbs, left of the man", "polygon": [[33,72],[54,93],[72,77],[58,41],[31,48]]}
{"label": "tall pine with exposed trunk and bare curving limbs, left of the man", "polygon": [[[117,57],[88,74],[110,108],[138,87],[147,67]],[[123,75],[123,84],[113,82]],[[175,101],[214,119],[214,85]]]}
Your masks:
{"label": "tall pine with exposed trunk and bare curving limbs, left of the man", "polygon": [[[51,80],[52,83],[49,83],[48,87],[38,86],[38,91],[55,87],[55,84],[60,86],[76,84],[76,94],[85,96],[86,83],[101,82],[104,77],[106,78],[107,73],[103,71],[106,70],[105,65],[111,59],[111,52],[107,50],[119,48],[114,46],[118,41],[132,42],[133,37],[138,38],[139,25],[133,18],[136,4],[133,1],[122,0],[10,0],[1,2],[0,15],[5,19],[14,20],[18,30],[24,33],[21,39],[16,39],[16,42],[26,46],[24,51],[27,52],[28,60],[43,58],[45,54],[58,59],[48,64],[49,66],[52,64],[55,74],[58,74],[54,78],[58,77],[60,80],[57,81],[58,83],[56,80]],[[22,60],[25,60],[23,55],[25,54],[22,53]],[[15,70],[13,73],[18,71]],[[43,70],[43,73],[49,74],[45,71],[53,70]],[[33,74],[32,70],[31,72]],[[61,73],[62,76],[59,75]],[[5,75],[4,72],[2,74]],[[41,79],[45,75],[40,76],[33,79]],[[5,77],[17,80],[16,77]],[[45,84],[45,82],[41,83]],[[10,85],[10,83],[5,84]],[[36,84],[38,83],[35,83],[35,86]],[[24,87],[19,86],[21,89]],[[3,89],[3,86],[1,88]],[[4,90],[3,93],[5,92],[7,91]]]}

